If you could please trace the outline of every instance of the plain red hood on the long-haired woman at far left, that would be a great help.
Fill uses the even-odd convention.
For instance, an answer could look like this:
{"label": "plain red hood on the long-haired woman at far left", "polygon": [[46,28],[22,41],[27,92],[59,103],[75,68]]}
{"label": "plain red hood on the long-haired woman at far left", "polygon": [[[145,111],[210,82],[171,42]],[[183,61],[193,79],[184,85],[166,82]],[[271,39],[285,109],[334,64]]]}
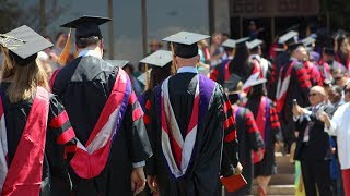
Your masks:
{"label": "plain red hood on the long-haired woman at far left", "polygon": [[4,111],[0,98],[0,193],[1,196],[37,196],[43,177],[44,150],[49,110],[46,89],[37,87],[22,137],[8,167]]}

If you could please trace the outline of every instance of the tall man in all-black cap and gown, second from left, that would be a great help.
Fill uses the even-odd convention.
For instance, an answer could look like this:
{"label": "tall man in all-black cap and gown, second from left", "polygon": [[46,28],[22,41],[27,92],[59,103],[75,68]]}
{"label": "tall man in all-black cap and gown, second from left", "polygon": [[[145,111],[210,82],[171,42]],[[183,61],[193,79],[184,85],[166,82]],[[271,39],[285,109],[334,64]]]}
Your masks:
{"label": "tall man in all-black cap and gown, second from left", "polygon": [[70,162],[73,195],[132,195],[143,189],[151,146],[143,111],[131,82],[102,59],[98,25],[109,19],[83,16],[75,29],[78,58],[54,73],[52,91],[62,100],[79,139]]}

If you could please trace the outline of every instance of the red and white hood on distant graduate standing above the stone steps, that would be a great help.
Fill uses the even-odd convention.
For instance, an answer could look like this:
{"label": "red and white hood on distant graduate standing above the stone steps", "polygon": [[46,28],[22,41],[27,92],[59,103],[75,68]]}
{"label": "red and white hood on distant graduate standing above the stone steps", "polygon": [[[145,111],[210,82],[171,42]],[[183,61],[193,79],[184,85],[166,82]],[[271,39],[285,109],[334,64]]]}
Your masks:
{"label": "red and white hood on distant graduate standing above the stone steps", "polygon": [[[294,66],[294,63],[295,62],[292,61],[292,63],[290,63],[288,68],[285,68],[287,65],[284,65],[280,70],[280,77],[278,78],[276,90],[276,109],[278,113],[280,113],[284,107],[287,91],[289,88],[289,83],[291,82],[292,68]],[[285,69],[285,75],[283,75],[282,73]]]}

